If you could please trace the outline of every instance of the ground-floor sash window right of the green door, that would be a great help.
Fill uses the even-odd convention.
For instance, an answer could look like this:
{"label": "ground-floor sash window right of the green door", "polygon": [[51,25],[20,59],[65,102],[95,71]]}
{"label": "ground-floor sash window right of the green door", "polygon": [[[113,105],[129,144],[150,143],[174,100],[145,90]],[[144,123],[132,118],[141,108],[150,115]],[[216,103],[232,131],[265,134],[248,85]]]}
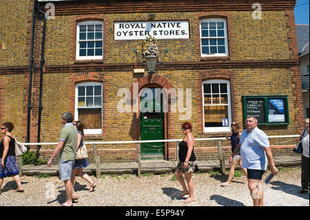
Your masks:
{"label": "ground-floor sash window right of the green door", "polygon": [[229,132],[231,104],[229,81],[203,81],[204,132]]}

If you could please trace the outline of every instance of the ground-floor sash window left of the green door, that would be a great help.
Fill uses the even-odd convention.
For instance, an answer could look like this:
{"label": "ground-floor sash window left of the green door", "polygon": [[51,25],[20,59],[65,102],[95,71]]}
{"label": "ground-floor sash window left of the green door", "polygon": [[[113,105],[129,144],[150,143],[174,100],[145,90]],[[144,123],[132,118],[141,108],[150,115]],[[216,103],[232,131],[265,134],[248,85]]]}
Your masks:
{"label": "ground-floor sash window left of the green door", "polygon": [[79,83],[75,93],[75,121],[82,121],[85,134],[102,133],[102,84]]}

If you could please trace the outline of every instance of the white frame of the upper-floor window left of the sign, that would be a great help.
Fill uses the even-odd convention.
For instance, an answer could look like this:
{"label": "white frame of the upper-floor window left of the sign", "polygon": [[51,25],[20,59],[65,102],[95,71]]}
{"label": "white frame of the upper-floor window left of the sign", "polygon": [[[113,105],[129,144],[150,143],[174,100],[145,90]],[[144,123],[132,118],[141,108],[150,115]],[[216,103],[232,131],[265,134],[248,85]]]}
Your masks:
{"label": "white frame of the upper-floor window left of the sign", "polygon": [[[101,56],[96,56],[96,51],[94,51],[94,56],[80,56],[80,26],[83,25],[102,25],[102,54]],[[83,21],[80,23],[77,23],[76,25],[76,60],[90,60],[90,59],[103,59],[103,22],[102,21]],[[95,38],[95,37],[94,37]],[[84,41],[84,40],[83,40]],[[88,41],[87,39],[85,41]],[[89,40],[89,41],[96,41]]]}

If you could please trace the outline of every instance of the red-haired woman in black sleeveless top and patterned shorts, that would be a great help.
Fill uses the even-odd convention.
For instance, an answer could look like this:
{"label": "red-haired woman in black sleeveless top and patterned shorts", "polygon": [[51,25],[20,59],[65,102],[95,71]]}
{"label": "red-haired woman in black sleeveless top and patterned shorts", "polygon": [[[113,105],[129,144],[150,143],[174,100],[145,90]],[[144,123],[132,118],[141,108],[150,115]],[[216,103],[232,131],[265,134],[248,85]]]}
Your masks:
{"label": "red-haired woman in black sleeveless top and patterned shorts", "polygon": [[[185,138],[183,141],[178,143],[178,157],[180,161],[178,161],[178,166],[176,167],[176,172],[174,172],[174,175],[183,187],[183,192],[180,194],[180,197],[184,197],[185,194],[189,194],[189,197],[185,199],[184,203],[191,203],[192,201],[195,201],[192,175],[196,168],[196,157],[194,154],[195,140],[192,134],[192,124],[189,122],[183,123],[182,131]],[[183,173],[185,174],[188,190],[183,179]]]}

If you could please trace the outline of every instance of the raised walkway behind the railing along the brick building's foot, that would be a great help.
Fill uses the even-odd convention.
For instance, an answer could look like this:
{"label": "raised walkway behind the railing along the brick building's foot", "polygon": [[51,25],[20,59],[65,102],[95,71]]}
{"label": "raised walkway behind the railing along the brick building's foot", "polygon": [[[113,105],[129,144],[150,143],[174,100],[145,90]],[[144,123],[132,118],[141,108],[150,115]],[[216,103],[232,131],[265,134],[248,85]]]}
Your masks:
{"label": "raised walkway behind the railing along the brick building's foot", "polygon": [[[277,156],[273,157],[276,166],[300,166],[301,157],[300,155],[293,156]],[[176,168],[177,161],[143,161],[141,164],[141,172],[152,172],[152,173],[166,173],[173,172]],[[227,163],[227,162],[226,162]],[[200,172],[207,172],[212,170],[218,170],[220,168],[219,160],[207,160],[197,161]],[[225,166],[229,168],[227,164]],[[238,169],[238,166],[237,166]],[[48,167],[46,165],[34,166],[26,165],[23,166],[23,174],[25,175],[37,175],[41,173],[48,173],[52,176],[58,175],[59,165],[53,165]],[[135,174],[138,170],[138,163],[136,162],[122,162],[122,163],[101,163],[101,174]],[[83,170],[89,174],[96,174],[96,164],[92,163],[90,166]]]}

